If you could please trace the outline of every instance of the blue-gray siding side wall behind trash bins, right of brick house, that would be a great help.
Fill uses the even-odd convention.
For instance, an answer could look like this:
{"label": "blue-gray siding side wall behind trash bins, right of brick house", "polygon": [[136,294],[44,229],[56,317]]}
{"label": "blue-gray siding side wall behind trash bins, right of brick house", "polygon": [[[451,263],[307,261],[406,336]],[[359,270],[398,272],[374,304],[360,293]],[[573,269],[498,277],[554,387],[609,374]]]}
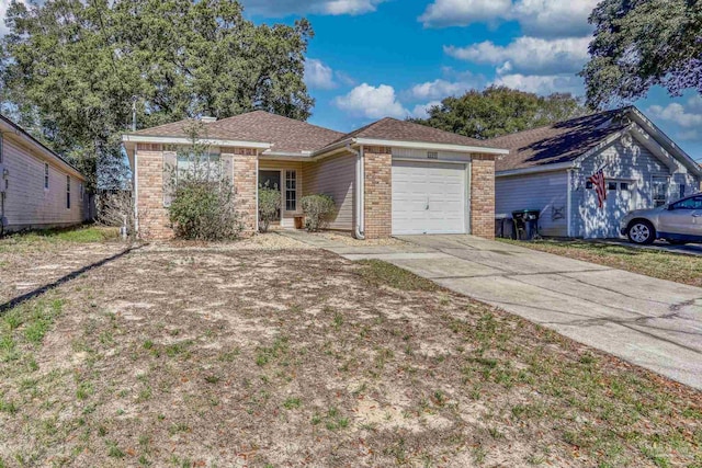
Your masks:
{"label": "blue-gray siding side wall behind trash bins, right of brick house", "polygon": [[566,171],[497,178],[495,213],[511,215],[517,209],[537,208],[541,235],[565,237],[568,235],[567,181]]}

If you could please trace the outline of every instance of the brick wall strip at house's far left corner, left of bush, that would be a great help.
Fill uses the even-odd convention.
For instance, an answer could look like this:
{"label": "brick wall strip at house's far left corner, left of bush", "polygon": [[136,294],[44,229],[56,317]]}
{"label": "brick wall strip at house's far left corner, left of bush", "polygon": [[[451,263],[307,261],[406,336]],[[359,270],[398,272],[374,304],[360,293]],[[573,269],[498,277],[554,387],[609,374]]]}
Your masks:
{"label": "brick wall strip at house's far left corner, left of bush", "polygon": [[137,147],[139,236],[148,239],[173,237],[163,207],[163,151],[160,145]]}

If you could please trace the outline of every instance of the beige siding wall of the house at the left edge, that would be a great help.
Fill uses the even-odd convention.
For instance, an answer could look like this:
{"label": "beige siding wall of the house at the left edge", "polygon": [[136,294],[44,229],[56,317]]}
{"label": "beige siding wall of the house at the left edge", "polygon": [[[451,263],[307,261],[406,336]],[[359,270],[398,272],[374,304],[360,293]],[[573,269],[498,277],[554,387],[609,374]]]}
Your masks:
{"label": "beige siding wall of the house at the left edge", "polygon": [[[44,189],[45,162],[49,163],[48,190]],[[58,161],[43,159],[9,134],[3,139],[3,163],[9,171],[4,202],[9,230],[70,226],[84,220],[87,203],[80,199],[80,184],[84,182],[72,171]],[[66,208],[66,175],[70,175],[70,209]]]}

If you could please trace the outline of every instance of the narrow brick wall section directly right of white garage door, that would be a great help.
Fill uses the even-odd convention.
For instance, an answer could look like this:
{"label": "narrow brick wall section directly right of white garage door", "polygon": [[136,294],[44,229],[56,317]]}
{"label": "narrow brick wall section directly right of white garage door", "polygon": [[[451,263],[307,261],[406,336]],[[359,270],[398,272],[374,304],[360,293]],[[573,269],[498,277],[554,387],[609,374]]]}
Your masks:
{"label": "narrow brick wall section directly right of white garage door", "polygon": [[495,157],[473,156],[471,170],[471,233],[495,239]]}

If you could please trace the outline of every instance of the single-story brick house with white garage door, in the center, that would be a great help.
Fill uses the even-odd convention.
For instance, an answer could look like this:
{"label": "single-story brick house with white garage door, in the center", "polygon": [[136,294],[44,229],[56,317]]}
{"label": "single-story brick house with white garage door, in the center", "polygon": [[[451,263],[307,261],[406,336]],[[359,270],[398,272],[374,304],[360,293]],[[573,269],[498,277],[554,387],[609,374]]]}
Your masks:
{"label": "single-story brick house with white garage door, in the center", "polygon": [[[301,198],[319,193],[337,205],[330,228],[359,238],[494,236],[495,157],[506,150],[394,118],[347,135],[262,111],[201,122],[200,138],[231,175],[248,231],[258,229],[258,187],[268,182],[281,187],[286,228],[302,214]],[[182,121],[123,137],[141,236],[172,236],[168,168],[188,163],[177,161],[191,145],[188,127]]]}

